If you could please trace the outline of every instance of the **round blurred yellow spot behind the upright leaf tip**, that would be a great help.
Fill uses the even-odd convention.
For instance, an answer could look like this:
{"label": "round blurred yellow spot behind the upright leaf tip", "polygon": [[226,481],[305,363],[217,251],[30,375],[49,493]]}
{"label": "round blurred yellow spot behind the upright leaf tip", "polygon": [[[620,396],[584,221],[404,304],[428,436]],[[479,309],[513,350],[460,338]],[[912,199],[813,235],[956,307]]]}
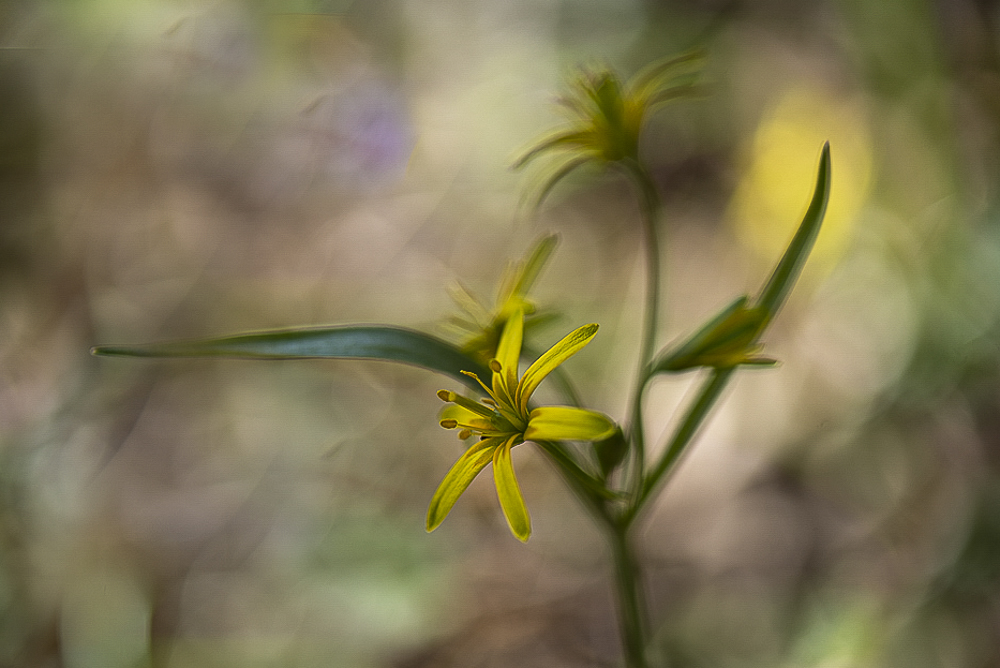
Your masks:
{"label": "round blurred yellow spot behind the upright leaf tip", "polygon": [[777,260],[802,221],[827,140],[833,180],[810,259],[814,267],[830,267],[840,257],[867,198],[872,144],[863,109],[819,89],[799,87],[787,92],[757,129],[729,220],[740,240],[764,261]]}

